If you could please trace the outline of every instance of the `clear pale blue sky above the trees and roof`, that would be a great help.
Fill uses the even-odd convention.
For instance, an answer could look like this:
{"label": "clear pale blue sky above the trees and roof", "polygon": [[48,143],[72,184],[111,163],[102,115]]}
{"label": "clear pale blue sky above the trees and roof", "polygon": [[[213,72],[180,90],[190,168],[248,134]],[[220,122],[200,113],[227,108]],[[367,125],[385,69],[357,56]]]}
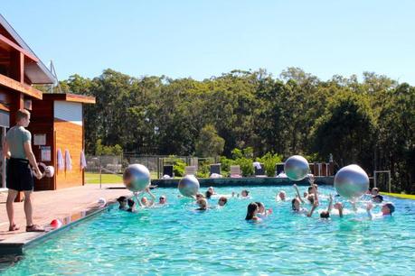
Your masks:
{"label": "clear pale blue sky above the trees and roof", "polygon": [[290,66],[319,78],[374,71],[415,85],[415,1],[5,1],[0,12],[60,79],[196,79]]}

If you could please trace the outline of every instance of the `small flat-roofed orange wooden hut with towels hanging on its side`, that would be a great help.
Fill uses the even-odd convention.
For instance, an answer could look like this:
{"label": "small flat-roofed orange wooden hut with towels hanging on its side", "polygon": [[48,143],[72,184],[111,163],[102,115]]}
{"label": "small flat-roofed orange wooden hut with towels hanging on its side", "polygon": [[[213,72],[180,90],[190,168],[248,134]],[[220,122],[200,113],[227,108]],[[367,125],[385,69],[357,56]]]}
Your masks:
{"label": "small flat-roofed orange wooden hut with towels hanging on its side", "polygon": [[[43,94],[32,102],[33,153],[37,161],[55,168],[53,178],[35,181],[35,189],[62,189],[84,185],[81,154],[84,149],[82,110],[94,97]],[[61,161],[59,157],[61,156]]]}

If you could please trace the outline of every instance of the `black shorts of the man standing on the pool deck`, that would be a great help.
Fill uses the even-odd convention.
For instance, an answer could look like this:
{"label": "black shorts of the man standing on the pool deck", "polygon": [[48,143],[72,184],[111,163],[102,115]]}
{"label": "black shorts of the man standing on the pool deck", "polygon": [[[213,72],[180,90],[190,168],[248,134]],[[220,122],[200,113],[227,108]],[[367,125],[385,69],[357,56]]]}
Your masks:
{"label": "black shorts of the man standing on the pool deck", "polygon": [[28,160],[11,158],[7,162],[5,185],[18,191],[33,190],[33,174]]}

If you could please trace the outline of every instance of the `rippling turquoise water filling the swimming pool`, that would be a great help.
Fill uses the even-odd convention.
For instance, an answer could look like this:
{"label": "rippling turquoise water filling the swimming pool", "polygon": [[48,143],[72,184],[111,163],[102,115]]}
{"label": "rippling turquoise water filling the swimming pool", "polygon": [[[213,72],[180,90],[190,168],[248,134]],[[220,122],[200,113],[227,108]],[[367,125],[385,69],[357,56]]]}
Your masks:
{"label": "rippling turquoise water filling the swimming pool", "polygon": [[[216,189],[222,194],[241,187]],[[245,188],[244,188],[245,189]],[[280,189],[250,188],[251,200],[231,198],[223,208],[193,211],[176,189],[156,189],[169,205],[137,214],[110,207],[90,220],[28,249],[5,275],[76,274],[344,274],[415,273],[415,201],[389,198],[396,215],[369,221],[362,214],[321,220],[294,215],[276,202]],[[305,190],[300,187],[300,191]],[[335,193],[319,188],[320,193]],[[259,224],[244,220],[250,201],[273,214]],[[217,200],[211,200],[216,205]],[[319,209],[326,207],[322,200]]]}

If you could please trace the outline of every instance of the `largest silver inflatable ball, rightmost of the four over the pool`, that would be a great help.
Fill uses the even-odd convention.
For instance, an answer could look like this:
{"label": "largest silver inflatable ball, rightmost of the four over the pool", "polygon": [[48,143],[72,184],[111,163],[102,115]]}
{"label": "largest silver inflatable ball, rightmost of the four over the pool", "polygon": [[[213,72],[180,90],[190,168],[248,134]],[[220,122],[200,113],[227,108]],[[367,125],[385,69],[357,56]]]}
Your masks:
{"label": "largest silver inflatable ball, rightmost of the four over the pool", "polygon": [[344,198],[360,198],[367,189],[369,177],[358,165],[345,166],[335,174],[335,190]]}

